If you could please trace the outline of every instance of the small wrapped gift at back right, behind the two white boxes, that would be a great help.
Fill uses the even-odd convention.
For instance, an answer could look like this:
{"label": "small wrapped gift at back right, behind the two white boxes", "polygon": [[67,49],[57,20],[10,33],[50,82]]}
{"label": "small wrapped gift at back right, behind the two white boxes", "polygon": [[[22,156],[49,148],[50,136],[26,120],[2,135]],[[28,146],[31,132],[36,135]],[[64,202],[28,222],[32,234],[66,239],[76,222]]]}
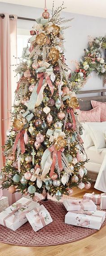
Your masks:
{"label": "small wrapped gift at back right, behind the two white boxes", "polygon": [[92,200],[96,205],[100,205],[101,203],[101,194],[94,194],[93,193],[85,193],[83,196],[83,199],[85,200]]}

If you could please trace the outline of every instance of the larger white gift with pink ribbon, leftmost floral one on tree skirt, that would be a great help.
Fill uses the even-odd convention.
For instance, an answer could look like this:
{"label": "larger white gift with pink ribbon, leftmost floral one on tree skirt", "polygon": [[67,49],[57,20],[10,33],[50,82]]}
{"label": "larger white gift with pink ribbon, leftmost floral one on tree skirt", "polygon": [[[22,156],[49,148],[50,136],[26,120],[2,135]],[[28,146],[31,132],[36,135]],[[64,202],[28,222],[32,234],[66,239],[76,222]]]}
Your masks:
{"label": "larger white gift with pink ribbon, leftmost floral one on tree skirt", "polygon": [[32,200],[22,197],[0,213],[0,224],[15,231],[27,222],[25,214],[39,205]]}

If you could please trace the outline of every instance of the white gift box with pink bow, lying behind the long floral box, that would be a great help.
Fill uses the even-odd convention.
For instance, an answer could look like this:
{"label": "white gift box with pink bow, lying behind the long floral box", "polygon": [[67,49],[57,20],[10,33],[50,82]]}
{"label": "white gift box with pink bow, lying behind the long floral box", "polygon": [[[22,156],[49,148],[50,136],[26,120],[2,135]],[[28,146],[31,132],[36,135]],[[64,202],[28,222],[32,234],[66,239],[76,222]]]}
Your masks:
{"label": "white gift box with pink bow, lying behind the long floral box", "polygon": [[79,211],[83,209],[85,211],[93,211],[97,209],[97,206],[93,203],[92,200],[80,200],[74,198],[67,198],[63,200],[63,205],[67,211]]}

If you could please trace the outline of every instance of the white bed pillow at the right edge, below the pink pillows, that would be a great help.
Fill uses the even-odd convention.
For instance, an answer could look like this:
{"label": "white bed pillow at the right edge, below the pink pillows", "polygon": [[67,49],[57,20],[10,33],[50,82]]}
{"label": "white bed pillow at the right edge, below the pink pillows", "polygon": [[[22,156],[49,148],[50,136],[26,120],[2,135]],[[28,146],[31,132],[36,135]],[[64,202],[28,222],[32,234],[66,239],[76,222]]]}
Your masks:
{"label": "white bed pillow at the right edge, below the pink pillows", "polygon": [[106,130],[106,122],[89,122],[88,123],[90,136],[94,142],[97,153],[106,148],[104,138],[104,130]]}

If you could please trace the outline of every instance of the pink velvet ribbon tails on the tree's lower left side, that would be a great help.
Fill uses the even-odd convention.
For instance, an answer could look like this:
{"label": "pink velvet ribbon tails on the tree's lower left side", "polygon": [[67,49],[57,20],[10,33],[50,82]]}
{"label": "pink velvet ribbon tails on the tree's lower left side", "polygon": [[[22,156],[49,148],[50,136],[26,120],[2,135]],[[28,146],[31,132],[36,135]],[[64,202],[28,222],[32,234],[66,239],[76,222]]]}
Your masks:
{"label": "pink velvet ribbon tails on the tree's lower left side", "polygon": [[18,134],[16,135],[14,145],[13,145],[13,154],[15,154],[15,151],[17,149],[19,139],[20,139],[21,153],[22,154],[25,153],[24,134],[25,134],[25,130],[22,130],[22,131],[19,131]]}

